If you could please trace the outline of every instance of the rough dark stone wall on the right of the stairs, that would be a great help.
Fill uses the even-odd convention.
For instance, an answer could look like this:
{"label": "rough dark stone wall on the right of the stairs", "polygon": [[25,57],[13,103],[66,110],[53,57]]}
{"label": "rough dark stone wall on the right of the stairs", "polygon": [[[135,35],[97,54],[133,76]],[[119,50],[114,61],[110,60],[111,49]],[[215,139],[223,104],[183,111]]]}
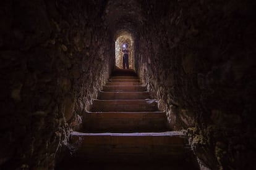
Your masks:
{"label": "rough dark stone wall on the right of the stairs", "polygon": [[201,168],[255,169],[253,1],[140,1],[138,72]]}

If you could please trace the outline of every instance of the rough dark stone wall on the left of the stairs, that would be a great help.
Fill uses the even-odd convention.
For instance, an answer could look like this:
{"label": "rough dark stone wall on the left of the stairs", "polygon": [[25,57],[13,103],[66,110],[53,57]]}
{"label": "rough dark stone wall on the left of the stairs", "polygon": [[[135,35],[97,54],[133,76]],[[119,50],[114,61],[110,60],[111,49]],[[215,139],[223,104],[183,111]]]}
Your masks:
{"label": "rough dark stone wall on the left of the stairs", "polygon": [[0,169],[52,169],[109,76],[103,1],[1,1]]}

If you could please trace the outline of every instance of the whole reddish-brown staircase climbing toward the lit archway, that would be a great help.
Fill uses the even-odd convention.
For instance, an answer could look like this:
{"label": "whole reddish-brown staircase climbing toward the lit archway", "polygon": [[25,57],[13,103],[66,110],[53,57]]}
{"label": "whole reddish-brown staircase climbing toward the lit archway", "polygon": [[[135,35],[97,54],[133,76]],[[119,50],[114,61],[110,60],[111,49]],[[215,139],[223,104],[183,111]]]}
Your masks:
{"label": "whole reddish-brown staircase climbing toward the lit archway", "polygon": [[[80,168],[91,164],[92,169],[95,164],[119,169],[116,164],[121,163],[121,169],[145,163],[171,163],[172,167],[181,163],[174,169],[184,169],[183,162],[189,163],[191,156],[184,134],[169,131],[165,113],[158,110],[157,102],[150,99],[133,70],[113,72],[84,115],[81,132],[71,134],[70,146],[73,161],[84,164]],[[188,167],[193,169],[194,165]]]}

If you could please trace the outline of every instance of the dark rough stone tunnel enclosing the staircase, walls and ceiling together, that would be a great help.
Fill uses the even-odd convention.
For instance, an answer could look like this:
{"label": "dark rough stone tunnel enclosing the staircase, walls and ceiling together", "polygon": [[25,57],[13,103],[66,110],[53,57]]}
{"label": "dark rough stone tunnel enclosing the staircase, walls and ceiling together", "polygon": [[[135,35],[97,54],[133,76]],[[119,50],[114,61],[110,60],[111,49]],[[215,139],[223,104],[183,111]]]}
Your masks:
{"label": "dark rough stone tunnel enclosing the staircase, walls and ceiling together", "polygon": [[0,4],[0,169],[74,165],[70,136],[123,71],[124,42],[129,70],[170,133],[182,133],[197,169],[256,169],[255,1]]}

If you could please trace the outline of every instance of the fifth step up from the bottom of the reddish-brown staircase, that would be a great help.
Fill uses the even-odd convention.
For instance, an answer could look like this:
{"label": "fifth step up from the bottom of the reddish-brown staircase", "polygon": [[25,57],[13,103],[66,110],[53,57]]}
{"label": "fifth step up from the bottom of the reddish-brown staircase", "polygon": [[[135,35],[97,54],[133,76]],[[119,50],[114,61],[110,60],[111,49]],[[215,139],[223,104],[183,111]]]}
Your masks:
{"label": "fifth step up from the bottom of the reddish-brown staircase", "polygon": [[143,92],[147,91],[145,86],[103,86],[103,91],[108,92]]}

